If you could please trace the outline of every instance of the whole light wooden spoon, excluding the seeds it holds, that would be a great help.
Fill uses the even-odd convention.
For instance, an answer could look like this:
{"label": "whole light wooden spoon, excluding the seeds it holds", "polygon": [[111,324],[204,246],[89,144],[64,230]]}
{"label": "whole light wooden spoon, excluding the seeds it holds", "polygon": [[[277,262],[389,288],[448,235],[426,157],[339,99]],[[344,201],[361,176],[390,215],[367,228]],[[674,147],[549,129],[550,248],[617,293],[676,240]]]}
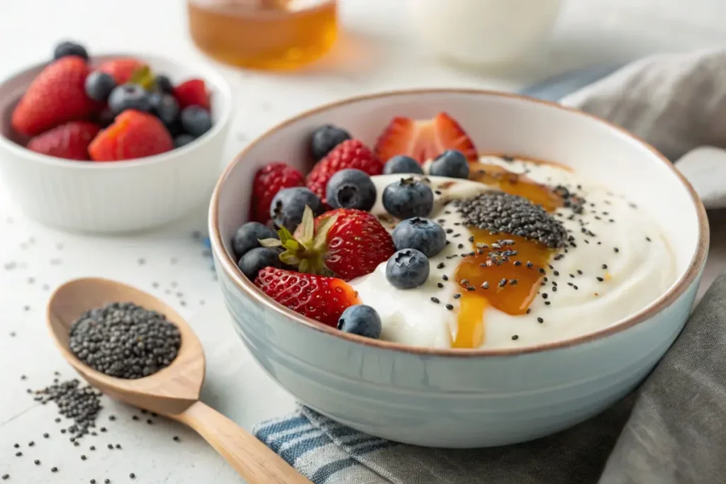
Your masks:
{"label": "whole light wooden spoon, excluding the seeds it holds", "polygon": [[[176,324],[181,348],[170,366],[139,380],[123,380],[97,372],[71,353],[68,332],[73,322],[89,309],[116,302],[158,311]],[[108,279],[75,279],[51,296],[48,327],[63,357],[91,385],[112,398],[192,427],[249,483],[311,484],[264,443],[199,401],[205,367],[202,345],[186,321],[152,295]]]}

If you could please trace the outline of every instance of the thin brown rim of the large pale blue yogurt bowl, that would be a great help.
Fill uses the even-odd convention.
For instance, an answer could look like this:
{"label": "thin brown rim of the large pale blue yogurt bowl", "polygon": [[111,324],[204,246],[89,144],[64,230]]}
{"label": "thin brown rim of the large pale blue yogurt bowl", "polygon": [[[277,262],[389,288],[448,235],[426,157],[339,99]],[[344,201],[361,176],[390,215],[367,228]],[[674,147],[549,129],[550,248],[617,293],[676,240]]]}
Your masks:
{"label": "thin brown rim of the large pale blue yogurt bowl", "polygon": [[[605,125],[607,125],[609,128],[619,131],[621,134],[624,134],[630,139],[636,141],[638,144],[648,149],[651,153],[653,153],[653,155],[658,157],[658,159],[660,159],[669,167],[672,173],[677,176],[677,179],[679,179],[681,183],[685,186],[685,189],[687,189],[688,193],[690,194],[691,200],[693,201],[693,208],[696,209],[696,216],[698,218],[698,242],[696,245],[696,250],[693,253],[693,258],[691,258],[688,267],[685,269],[682,276],[677,279],[675,284],[673,284],[672,287],[669,288],[669,290],[661,294],[658,299],[656,299],[637,313],[632,314],[626,319],[622,319],[616,324],[604,327],[595,332],[587,333],[586,335],[580,335],[577,337],[568,338],[566,340],[559,340],[550,343],[527,346],[524,348],[427,348],[421,346],[403,345],[401,343],[394,343],[385,340],[373,340],[371,338],[351,335],[349,333],[339,331],[338,329],[322,324],[319,321],[315,321],[314,319],[310,319],[306,316],[295,313],[295,311],[291,310],[290,308],[287,308],[284,305],[277,303],[277,301],[272,300],[272,298],[267,297],[264,292],[259,290],[252,282],[250,282],[245,276],[241,274],[241,272],[237,268],[237,265],[230,257],[229,253],[224,250],[224,244],[221,239],[221,234],[219,231],[219,194],[221,192],[221,187],[227,180],[229,173],[232,171],[232,168],[234,168],[237,163],[240,163],[240,160],[242,160],[245,155],[247,155],[247,153],[250,151],[250,149],[252,149],[254,145],[258,144],[261,141],[264,141],[264,139],[266,139],[267,137],[272,136],[272,134],[274,134],[276,131],[285,128],[290,124],[296,123],[299,120],[307,118],[310,115],[315,115],[319,112],[329,110],[333,107],[353,104],[367,99],[380,99],[386,97],[396,97],[401,95],[410,96],[417,94],[485,95],[490,97],[507,97],[510,99],[518,99],[523,102],[544,104],[549,107],[554,107],[558,110],[565,110],[568,112],[572,112],[575,115],[584,116],[597,120],[600,123],[605,123]],[[682,174],[674,168],[673,164],[664,155],[662,155],[661,152],[658,152],[658,150],[655,149],[653,146],[645,142],[643,139],[640,139],[638,136],[630,133],[626,129],[621,128],[620,126],[617,126],[609,122],[608,120],[604,120],[603,118],[591,115],[590,113],[576,110],[572,107],[566,107],[555,102],[544,101],[542,99],[537,99],[534,97],[501,91],[490,91],[486,89],[401,89],[396,91],[379,92],[375,94],[364,94],[361,96],[349,97],[336,102],[322,104],[319,107],[303,111],[298,115],[293,116],[292,118],[288,118],[287,120],[282,121],[282,123],[279,123],[276,126],[269,128],[267,131],[264,132],[264,134],[261,134],[252,142],[250,142],[247,147],[242,149],[234,157],[232,163],[229,163],[229,165],[227,165],[227,168],[225,168],[224,173],[222,173],[222,175],[219,177],[219,180],[214,187],[211,203],[209,205],[208,222],[212,252],[216,257],[217,265],[221,267],[221,270],[224,271],[224,274],[229,277],[229,279],[234,283],[237,289],[239,289],[246,298],[250,298],[252,300],[255,300],[257,303],[265,305],[267,308],[271,309],[272,311],[274,311],[274,313],[277,313],[280,316],[303,324],[303,326],[314,329],[317,332],[322,332],[330,335],[331,337],[337,337],[341,340],[348,341],[349,343],[367,345],[370,347],[378,348],[380,350],[395,350],[402,353],[412,353],[419,356],[446,356],[464,358],[484,356],[519,356],[528,353],[541,353],[549,350],[571,348],[576,345],[590,343],[600,338],[608,337],[610,335],[622,332],[625,329],[634,327],[635,325],[643,321],[647,321],[648,319],[655,316],[657,313],[663,311],[664,308],[671,305],[675,300],[677,300],[677,298],[679,298],[696,280],[696,277],[701,271],[703,263],[705,263],[706,261],[706,254],[708,253],[709,247],[709,223],[708,218],[706,217],[706,209],[703,207],[703,203],[701,202],[700,197],[698,197],[698,194],[696,194],[696,191],[693,189],[693,186],[691,186],[688,180],[685,179],[685,177],[682,176]]]}

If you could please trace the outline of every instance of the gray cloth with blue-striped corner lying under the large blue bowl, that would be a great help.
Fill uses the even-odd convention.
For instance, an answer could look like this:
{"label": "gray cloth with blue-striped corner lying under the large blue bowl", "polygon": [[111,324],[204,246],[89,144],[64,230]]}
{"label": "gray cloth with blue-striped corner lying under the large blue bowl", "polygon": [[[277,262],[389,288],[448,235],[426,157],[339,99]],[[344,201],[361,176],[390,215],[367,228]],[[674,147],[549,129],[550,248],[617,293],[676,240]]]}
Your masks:
{"label": "gray cloth with blue-striped corner lying under the large blue bowl", "polygon": [[315,484],[721,484],[725,311],[726,274],[639,390],[547,438],[498,448],[423,448],[366,435],[306,407],[254,432]]}

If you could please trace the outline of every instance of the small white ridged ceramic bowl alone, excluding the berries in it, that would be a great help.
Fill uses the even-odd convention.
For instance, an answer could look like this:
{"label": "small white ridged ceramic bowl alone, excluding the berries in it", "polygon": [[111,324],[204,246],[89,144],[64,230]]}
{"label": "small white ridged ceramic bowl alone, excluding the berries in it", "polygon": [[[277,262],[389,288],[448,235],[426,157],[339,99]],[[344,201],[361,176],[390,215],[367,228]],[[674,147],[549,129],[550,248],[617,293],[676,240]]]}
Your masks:
{"label": "small white ridged ceramic bowl alone, excluding the berries in it", "polygon": [[222,168],[232,117],[227,81],[210,67],[161,57],[109,54],[94,64],[136,57],[172,81],[203,78],[211,91],[213,126],[188,144],[161,155],[113,163],[62,160],[12,141],[12,109],[44,64],[0,83],[0,183],[31,218],[71,231],[123,232],[149,229],[184,216],[209,200]]}

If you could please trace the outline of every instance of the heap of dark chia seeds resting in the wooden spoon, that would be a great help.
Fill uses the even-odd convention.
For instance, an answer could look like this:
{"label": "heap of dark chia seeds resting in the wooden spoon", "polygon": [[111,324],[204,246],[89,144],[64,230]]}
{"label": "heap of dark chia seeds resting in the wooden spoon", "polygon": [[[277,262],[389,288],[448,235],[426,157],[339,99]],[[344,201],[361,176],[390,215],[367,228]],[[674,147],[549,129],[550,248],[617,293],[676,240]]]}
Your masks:
{"label": "heap of dark chia seeds resting in the wooden spoon", "polygon": [[70,328],[70,350],[111,377],[134,380],[169,366],[181,346],[179,328],[133,303],[91,309]]}

